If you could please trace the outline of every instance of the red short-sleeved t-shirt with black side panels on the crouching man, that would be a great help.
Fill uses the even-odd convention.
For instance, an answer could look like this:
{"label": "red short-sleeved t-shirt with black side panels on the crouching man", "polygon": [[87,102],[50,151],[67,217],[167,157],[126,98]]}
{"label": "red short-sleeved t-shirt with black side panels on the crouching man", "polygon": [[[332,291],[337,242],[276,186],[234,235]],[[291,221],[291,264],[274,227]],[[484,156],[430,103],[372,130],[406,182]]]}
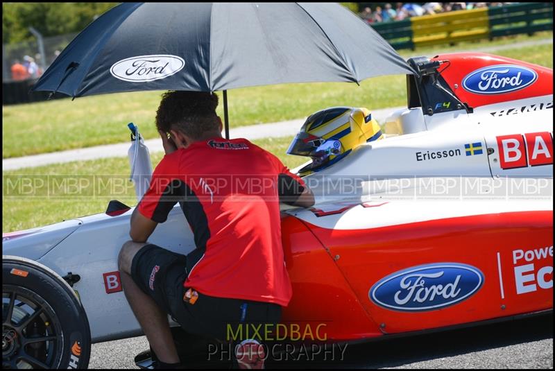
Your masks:
{"label": "red short-sleeved t-shirt with black side panels on the crouching man", "polygon": [[196,244],[184,286],[287,306],[292,291],[279,202],[295,200],[304,187],[278,157],[250,141],[214,138],[165,155],[138,209],[163,223],[180,202]]}

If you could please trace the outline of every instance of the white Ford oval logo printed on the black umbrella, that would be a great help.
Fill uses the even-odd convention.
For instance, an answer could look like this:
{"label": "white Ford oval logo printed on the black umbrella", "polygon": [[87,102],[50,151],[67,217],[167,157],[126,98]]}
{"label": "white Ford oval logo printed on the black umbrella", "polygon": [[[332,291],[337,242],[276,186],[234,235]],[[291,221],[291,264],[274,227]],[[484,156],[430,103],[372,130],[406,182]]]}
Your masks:
{"label": "white Ford oval logo printed on the black umbrella", "polygon": [[185,67],[185,60],[176,55],[140,55],[112,64],[110,74],[131,83],[146,83],[177,74]]}

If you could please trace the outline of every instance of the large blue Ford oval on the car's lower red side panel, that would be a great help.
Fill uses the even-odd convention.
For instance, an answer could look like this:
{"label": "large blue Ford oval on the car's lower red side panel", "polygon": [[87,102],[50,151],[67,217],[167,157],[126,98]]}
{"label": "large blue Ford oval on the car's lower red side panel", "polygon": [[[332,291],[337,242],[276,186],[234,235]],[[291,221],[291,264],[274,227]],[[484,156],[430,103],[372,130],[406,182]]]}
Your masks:
{"label": "large blue Ford oval on the car's lower red side panel", "polygon": [[368,292],[380,307],[397,311],[434,311],[474,295],[484,284],[478,268],[457,263],[428,264],[380,279]]}

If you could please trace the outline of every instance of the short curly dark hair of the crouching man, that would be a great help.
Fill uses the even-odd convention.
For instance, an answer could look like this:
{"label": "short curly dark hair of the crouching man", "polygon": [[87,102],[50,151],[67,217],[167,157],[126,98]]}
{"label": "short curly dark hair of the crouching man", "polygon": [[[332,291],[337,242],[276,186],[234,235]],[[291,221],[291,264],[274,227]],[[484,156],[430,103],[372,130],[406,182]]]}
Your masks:
{"label": "short curly dark hair of the crouching man", "polygon": [[215,93],[166,92],[162,94],[156,112],[156,127],[164,132],[179,130],[193,139],[199,139],[205,132],[219,130],[217,106],[218,96]]}

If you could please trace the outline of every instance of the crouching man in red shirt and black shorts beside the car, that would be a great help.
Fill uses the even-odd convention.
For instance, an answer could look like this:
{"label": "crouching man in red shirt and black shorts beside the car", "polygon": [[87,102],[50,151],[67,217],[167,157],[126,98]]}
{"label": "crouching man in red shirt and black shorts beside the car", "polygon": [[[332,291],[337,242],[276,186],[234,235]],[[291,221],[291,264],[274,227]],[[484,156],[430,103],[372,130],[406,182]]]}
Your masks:
{"label": "crouching man in red shirt and black shorts beside the car", "polygon": [[[217,105],[212,93],[162,96],[156,126],[166,155],[131,216],[133,241],[119,253],[123,291],[162,368],[180,366],[168,313],[185,331],[221,340],[229,340],[226,324],[279,322],[292,295],[279,203],[314,204],[305,182],[277,157],[246,139],[221,137]],[[187,256],[147,242],[177,202],[194,233],[196,249]],[[236,352],[246,354],[241,346]]]}

